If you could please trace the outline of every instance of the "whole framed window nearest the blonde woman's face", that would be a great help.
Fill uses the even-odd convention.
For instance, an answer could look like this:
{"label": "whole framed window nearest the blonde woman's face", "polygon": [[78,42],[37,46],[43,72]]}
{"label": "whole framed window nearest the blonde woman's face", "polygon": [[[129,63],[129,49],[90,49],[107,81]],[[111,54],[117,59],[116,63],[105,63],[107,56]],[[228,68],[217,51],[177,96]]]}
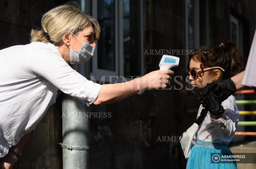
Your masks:
{"label": "whole framed window nearest the blonde woman's face", "polygon": [[143,74],[142,0],[92,0],[92,16],[101,26],[92,57],[91,76],[140,76]]}

